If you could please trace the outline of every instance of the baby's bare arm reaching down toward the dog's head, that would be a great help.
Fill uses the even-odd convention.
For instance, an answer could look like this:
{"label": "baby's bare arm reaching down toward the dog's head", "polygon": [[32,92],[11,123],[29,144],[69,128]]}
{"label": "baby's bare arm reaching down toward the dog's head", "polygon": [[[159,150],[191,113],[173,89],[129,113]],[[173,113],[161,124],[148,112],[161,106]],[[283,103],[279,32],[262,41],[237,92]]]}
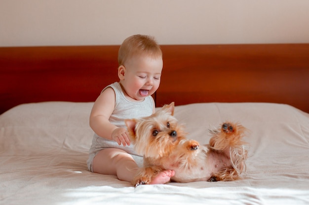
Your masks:
{"label": "baby's bare arm reaching down toward the dog's head", "polygon": [[117,127],[109,121],[114,107],[115,91],[113,88],[107,88],[94,102],[89,118],[90,127],[98,136],[114,140],[118,145],[130,145],[127,130]]}

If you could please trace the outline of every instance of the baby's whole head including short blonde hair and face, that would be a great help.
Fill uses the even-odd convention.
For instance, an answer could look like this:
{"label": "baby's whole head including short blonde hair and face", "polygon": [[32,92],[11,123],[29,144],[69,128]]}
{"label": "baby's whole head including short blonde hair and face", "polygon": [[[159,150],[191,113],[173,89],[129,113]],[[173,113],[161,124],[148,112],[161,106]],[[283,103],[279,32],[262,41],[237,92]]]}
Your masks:
{"label": "baby's whole head including short blonde hair and face", "polygon": [[144,100],[159,87],[162,51],[153,37],[138,34],[126,38],[119,48],[118,64],[119,83],[133,101]]}

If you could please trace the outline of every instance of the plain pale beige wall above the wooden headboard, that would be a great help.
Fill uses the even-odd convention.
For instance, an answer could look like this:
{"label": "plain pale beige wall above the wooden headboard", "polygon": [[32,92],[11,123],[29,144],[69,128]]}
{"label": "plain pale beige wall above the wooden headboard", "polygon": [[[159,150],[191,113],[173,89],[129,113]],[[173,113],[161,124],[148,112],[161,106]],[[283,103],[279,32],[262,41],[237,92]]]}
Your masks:
{"label": "plain pale beige wall above the wooden headboard", "polygon": [[309,0],[0,0],[0,46],[309,43]]}

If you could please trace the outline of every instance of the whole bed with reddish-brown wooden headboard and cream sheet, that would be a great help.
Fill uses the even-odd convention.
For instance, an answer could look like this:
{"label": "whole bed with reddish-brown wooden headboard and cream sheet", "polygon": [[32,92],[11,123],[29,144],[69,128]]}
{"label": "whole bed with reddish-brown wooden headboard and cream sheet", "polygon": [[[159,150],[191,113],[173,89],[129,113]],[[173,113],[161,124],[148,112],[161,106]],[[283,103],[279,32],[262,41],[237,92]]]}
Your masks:
{"label": "whole bed with reddish-brown wooden headboard and cream sheet", "polygon": [[119,46],[2,47],[0,204],[309,204],[309,44],[161,47],[156,109],[175,102],[201,144],[225,120],[247,127],[240,180],[134,188],[88,172],[88,117]]}

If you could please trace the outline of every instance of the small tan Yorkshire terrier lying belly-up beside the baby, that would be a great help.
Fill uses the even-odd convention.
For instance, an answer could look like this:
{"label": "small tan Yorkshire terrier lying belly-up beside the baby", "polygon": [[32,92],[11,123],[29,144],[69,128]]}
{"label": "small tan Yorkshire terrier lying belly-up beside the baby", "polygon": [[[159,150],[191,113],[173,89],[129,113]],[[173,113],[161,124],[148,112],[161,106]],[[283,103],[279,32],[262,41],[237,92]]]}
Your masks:
{"label": "small tan Yorkshire terrier lying belly-up beside the baby", "polygon": [[231,181],[245,170],[246,128],[239,123],[225,122],[210,130],[208,145],[186,138],[188,133],[174,117],[174,102],[149,117],[126,119],[125,124],[135,151],[144,156],[132,180],[135,187],[149,184],[163,170],[175,171],[173,182]]}

